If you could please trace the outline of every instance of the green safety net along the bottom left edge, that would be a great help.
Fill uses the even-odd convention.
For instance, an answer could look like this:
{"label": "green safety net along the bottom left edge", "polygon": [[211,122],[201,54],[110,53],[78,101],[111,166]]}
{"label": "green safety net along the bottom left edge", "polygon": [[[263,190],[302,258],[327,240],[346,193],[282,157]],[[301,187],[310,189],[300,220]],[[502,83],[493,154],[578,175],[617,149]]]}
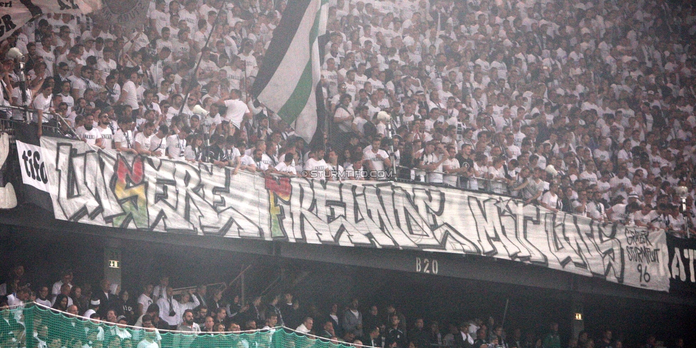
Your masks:
{"label": "green safety net along the bottom left edge", "polygon": [[37,305],[0,311],[1,348],[341,348],[344,342],[277,327],[185,334],[83,320]]}

